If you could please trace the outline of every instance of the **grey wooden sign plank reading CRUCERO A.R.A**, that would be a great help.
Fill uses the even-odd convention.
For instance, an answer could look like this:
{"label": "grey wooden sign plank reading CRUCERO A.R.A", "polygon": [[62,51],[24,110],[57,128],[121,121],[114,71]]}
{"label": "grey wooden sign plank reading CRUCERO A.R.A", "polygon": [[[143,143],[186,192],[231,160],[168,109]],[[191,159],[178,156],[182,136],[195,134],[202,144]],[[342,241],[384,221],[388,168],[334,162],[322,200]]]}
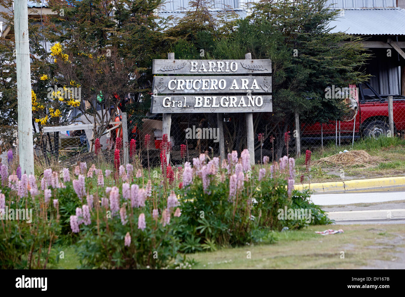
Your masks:
{"label": "grey wooden sign plank reading CRUCERO A.R.A", "polygon": [[155,76],[152,91],[155,95],[271,93],[271,76]]}

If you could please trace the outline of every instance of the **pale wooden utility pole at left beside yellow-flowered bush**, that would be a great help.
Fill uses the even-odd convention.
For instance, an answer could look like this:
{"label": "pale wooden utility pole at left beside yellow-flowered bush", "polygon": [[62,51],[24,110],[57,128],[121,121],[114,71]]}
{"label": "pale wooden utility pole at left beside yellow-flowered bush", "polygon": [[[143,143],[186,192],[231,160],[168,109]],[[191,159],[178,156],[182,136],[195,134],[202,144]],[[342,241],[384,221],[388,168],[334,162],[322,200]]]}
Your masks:
{"label": "pale wooden utility pole at left beside yellow-flowered bush", "polygon": [[15,57],[17,65],[18,145],[21,172],[34,174],[32,99],[27,0],[14,1]]}

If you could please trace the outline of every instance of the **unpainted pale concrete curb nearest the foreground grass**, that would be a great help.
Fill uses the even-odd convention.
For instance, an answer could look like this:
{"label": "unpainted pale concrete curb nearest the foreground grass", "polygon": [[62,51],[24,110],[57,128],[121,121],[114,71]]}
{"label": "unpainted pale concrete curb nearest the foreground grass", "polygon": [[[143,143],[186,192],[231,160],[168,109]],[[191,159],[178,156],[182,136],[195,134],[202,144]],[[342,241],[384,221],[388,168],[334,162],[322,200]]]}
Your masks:
{"label": "unpainted pale concrete curb nearest the foreground grass", "polygon": [[329,219],[335,221],[347,221],[347,220],[390,220],[390,219],[404,219],[405,209],[387,209],[377,211],[334,211],[326,213]]}

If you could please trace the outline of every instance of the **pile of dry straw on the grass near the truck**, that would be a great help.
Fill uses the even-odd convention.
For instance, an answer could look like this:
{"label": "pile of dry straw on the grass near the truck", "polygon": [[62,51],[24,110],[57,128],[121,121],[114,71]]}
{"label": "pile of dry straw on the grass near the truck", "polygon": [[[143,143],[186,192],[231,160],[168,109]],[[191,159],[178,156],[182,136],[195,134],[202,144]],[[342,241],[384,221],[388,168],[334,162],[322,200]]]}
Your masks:
{"label": "pile of dry straw on the grass near the truck", "polygon": [[311,162],[313,165],[335,164],[337,166],[362,166],[373,167],[384,161],[383,158],[370,156],[364,150],[349,151],[343,154],[335,154]]}

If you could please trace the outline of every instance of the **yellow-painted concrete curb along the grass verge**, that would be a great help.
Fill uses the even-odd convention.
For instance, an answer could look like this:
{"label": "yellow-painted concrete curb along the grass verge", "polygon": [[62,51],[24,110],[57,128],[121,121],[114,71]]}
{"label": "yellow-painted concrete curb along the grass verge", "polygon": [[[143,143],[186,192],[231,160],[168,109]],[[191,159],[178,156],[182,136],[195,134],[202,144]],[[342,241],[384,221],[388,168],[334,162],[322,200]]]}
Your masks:
{"label": "yellow-painted concrete curb along the grass verge", "polygon": [[[311,183],[310,189],[315,193],[349,191],[370,188],[392,187],[405,185],[405,176],[383,177],[377,179],[354,179],[351,181],[334,181],[328,183]],[[295,190],[308,189],[309,185],[295,185]]]}

